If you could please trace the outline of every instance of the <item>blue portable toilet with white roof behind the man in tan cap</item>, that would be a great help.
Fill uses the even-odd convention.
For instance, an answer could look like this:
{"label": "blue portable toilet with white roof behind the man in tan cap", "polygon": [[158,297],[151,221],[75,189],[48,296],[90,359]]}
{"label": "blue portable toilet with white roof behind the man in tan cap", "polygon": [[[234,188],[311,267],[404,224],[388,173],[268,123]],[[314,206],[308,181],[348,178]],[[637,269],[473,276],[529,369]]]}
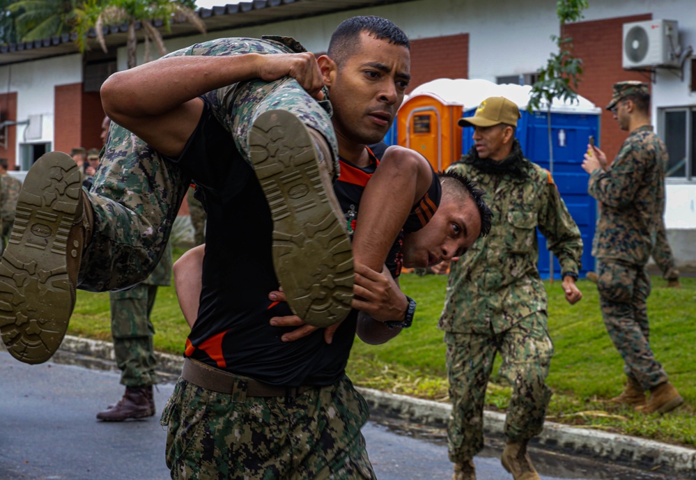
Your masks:
{"label": "blue portable toilet with white roof behind the man in tan cap", "polygon": [[[461,82],[482,82],[481,80]],[[555,100],[551,107],[551,143],[553,163],[549,155],[548,111],[542,106],[539,111],[527,111],[529,102],[529,85],[495,85],[488,82],[481,98],[477,102],[465,105],[462,116],[473,116],[478,104],[491,96],[502,96],[516,102],[520,107],[521,118],[518,120],[516,137],[520,141],[525,157],[539,164],[552,173],[563,201],[566,203],[575,223],[582,234],[582,269],[580,277],[594,270],[594,257],[591,256],[592,239],[597,217],[597,202],[587,193],[589,175],[582,170],[583,157],[587,151],[590,136],[594,136],[597,146],[600,145],[599,121],[601,108],[586,98],[578,97],[578,102],[564,103]],[[460,88],[467,88],[461,84]],[[470,93],[471,95],[471,93]],[[472,129],[463,129],[462,152],[466,153],[473,146]],[[560,265],[555,256],[552,257],[546,247],[546,238],[539,236],[539,273],[548,279],[551,274],[554,279],[561,278]],[[553,258],[553,264],[550,259]],[[550,268],[553,265],[553,268]]]}

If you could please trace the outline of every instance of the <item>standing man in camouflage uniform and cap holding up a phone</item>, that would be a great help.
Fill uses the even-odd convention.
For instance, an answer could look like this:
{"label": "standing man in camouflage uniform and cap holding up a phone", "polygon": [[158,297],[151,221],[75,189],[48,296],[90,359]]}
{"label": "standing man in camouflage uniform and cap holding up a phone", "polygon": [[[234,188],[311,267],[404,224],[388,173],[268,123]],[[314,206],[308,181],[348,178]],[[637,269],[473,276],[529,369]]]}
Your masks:
{"label": "standing man in camouflage uniform and cap holding up a phone", "polygon": [[645,264],[663,226],[667,149],[650,125],[647,84],[619,82],[613,92],[607,109],[630,134],[610,165],[596,147],[582,163],[590,174],[588,192],[602,203],[592,245],[602,316],[627,377],[626,389],[612,400],[644,413],[665,413],[683,398],[650,348]]}

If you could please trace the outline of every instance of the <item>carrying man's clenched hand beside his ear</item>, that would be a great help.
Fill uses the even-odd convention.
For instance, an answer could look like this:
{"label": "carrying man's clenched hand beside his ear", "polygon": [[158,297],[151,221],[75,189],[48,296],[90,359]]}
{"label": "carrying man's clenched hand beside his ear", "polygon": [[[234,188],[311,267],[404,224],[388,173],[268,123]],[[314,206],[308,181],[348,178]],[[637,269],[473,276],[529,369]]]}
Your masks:
{"label": "carrying man's clenched hand beside his ear", "polygon": [[321,91],[324,79],[314,54],[303,52],[259,55],[259,57],[258,78],[272,82],[282,77],[293,77],[313,98],[324,99]]}

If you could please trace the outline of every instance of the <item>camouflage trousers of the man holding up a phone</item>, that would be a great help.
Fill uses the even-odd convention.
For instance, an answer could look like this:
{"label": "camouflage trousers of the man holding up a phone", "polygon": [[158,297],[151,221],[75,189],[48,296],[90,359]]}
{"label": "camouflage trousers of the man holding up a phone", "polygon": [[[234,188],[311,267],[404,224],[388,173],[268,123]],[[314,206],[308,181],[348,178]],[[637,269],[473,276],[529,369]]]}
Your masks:
{"label": "camouflage trousers of the man holding up a phone", "polygon": [[647,272],[640,265],[599,260],[597,274],[604,325],[624,359],[624,373],[645,390],[666,382],[667,373],[649,343]]}

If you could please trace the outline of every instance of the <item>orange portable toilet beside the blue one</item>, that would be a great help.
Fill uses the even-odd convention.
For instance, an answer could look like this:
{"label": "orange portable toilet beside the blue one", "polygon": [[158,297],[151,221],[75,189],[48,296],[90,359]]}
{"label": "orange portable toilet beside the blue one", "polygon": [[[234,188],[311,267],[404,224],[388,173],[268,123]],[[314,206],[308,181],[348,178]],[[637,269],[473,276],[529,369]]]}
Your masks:
{"label": "orange portable toilet beside the blue one", "polygon": [[461,157],[456,122],[461,104],[447,104],[437,95],[413,95],[396,118],[399,145],[421,153],[435,171],[443,171]]}

